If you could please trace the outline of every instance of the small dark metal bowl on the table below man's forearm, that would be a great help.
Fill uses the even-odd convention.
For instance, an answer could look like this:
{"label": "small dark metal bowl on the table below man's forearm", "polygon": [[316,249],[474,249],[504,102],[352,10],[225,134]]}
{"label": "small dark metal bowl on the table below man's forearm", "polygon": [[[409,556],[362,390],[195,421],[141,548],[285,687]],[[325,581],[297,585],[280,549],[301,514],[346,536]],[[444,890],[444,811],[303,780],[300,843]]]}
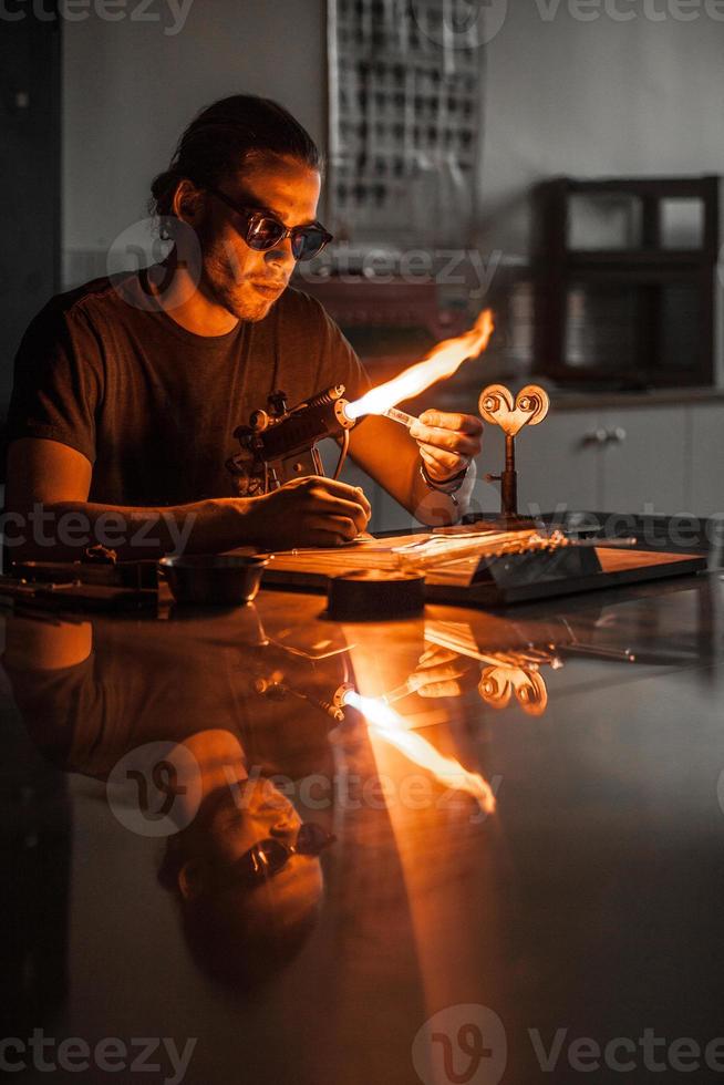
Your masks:
{"label": "small dark metal bowl on the table below man's forearm", "polygon": [[162,558],[158,567],[177,603],[240,607],[259,590],[263,555],[193,554]]}

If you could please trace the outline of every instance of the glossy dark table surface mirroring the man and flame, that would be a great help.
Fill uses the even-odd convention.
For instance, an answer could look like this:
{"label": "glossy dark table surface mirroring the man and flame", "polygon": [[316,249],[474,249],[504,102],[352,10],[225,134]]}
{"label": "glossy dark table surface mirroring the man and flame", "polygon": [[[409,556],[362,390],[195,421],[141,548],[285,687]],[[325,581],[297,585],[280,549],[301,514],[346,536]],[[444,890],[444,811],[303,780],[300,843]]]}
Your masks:
{"label": "glossy dark table surface mirroring the man and flame", "polygon": [[720,578],[323,608],[4,617],[2,1068],[716,1079]]}

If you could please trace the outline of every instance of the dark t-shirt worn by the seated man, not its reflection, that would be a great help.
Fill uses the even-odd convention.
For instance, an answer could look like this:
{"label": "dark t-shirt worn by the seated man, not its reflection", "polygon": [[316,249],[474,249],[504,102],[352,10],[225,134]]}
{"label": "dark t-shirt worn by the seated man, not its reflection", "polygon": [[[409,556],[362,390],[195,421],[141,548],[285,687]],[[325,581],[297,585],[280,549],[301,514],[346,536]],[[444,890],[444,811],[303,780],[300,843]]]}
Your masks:
{"label": "dark t-shirt worn by the seated man, not its reflection", "polygon": [[44,437],[93,465],[89,500],[183,505],[236,493],[235,428],[281,389],[290,406],[369,382],[318,301],[287,289],[261,321],[196,335],[149,308],[143,272],[53,298],[15,359],[7,440]]}

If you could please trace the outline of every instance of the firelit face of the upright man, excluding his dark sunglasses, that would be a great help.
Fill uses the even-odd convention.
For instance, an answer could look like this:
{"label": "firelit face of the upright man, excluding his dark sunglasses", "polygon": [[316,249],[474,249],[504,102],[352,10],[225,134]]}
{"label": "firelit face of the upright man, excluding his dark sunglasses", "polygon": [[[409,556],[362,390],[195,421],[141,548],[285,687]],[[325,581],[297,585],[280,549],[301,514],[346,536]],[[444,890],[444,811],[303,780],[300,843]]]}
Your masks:
{"label": "firelit face of the upright man, excluding his dark sunglasses", "polygon": [[[262,159],[219,189],[239,206],[266,210],[287,227],[309,226],[317,217],[321,178],[294,158]],[[241,218],[207,195],[200,229],[204,256],[201,291],[240,320],[263,320],[294,269],[291,239],[266,252],[249,248],[239,235]]]}

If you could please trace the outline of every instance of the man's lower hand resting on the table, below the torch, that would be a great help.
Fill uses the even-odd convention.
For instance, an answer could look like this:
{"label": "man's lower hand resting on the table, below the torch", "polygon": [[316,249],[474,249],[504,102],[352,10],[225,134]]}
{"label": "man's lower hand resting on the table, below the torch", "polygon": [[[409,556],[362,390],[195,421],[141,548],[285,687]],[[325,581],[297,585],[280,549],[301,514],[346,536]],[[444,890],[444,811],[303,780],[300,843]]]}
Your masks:
{"label": "man's lower hand resting on the table, below the torch", "polygon": [[368,526],[372,508],[358,486],[311,475],[250,498],[246,515],[245,534],[257,546],[290,550],[350,542]]}

